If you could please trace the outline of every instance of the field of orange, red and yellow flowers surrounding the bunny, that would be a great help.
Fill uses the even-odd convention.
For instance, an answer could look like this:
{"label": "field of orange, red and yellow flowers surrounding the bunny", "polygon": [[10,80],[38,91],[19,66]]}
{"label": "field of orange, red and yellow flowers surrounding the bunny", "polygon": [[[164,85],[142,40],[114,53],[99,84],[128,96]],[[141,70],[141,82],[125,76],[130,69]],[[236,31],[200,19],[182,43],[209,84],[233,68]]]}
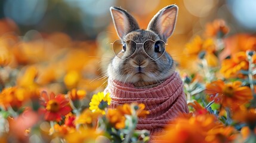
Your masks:
{"label": "field of orange, red and yellow flowers surrounding the bunny", "polygon": [[64,32],[19,35],[2,18],[0,142],[256,142],[256,36],[232,28],[215,18],[183,49],[168,49],[180,45],[169,41],[190,113],[150,138],[136,129],[150,114],[144,104],[110,108],[103,92],[110,41],[118,38],[113,25],[112,33],[79,41]]}

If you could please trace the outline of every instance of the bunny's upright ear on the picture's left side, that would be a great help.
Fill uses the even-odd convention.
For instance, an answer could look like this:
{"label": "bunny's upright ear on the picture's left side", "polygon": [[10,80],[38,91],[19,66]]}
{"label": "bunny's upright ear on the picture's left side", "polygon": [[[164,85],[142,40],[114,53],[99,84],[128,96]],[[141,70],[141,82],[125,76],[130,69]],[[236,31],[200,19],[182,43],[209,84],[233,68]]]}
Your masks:
{"label": "bunny's upright ear on the picture's left side", "polygon": [[129,32],[140,29],[134,17],[122,8],[110,7],[110,13],[119,38],[123,39]]}

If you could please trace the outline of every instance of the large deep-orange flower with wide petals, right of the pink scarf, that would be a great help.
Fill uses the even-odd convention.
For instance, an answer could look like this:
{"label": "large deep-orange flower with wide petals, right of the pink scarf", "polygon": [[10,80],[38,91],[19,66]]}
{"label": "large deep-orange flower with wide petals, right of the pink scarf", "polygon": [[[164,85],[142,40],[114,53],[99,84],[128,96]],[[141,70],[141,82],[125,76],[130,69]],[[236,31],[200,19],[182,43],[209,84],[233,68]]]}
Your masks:
{"label": "large deep-orange flower with wide petals, right of the pink scarf", "polygon": [[241,86],[242,82],[224,83],[216,80],[206,85],[206,94],[209,99],[220,102],[223,107],[238,107],[252,99],[251,89]]}

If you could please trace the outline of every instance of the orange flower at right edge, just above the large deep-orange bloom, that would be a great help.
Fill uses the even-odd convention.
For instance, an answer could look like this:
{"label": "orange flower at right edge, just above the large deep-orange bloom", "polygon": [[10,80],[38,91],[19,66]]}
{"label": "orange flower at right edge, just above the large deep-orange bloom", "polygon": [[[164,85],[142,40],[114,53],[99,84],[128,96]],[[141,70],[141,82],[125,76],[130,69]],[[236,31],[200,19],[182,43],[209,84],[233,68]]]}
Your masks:
{"label": "orange flower at right edge, just above the large deep-orange bloom", "polygon": [[[256,54],[252,56],[254,60],[253,63],[256,63]],[[223,60],[221,64],[220,73],[226,78],[230,77],[242,77],[242,74],[239,73],[240,70],[248,70],[249,63],[247,61],[245,52],[237,52],[230,59]]]}

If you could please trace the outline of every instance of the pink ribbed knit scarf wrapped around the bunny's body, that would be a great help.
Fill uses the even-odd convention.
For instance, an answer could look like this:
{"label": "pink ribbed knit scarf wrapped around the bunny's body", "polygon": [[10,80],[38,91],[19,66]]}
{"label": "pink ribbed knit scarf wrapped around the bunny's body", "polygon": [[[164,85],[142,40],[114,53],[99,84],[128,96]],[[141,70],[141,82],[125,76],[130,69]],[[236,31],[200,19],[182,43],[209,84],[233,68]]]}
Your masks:
{"label": "pink ribbed knit scarf wrapped around the bunny's body", "polygon": [[159,133],[180,112],[188,113],[183,91],[183,82],[177,72],[173,73],[161,85],[154,88],[135,88],[130,83],[121,83],[109,79],[106,92],[112,98],[110,107],[115,108],[125,103],[143,103],[150,114],[146,119],[139,119],[137,129],[147,129],[150,134]]}

